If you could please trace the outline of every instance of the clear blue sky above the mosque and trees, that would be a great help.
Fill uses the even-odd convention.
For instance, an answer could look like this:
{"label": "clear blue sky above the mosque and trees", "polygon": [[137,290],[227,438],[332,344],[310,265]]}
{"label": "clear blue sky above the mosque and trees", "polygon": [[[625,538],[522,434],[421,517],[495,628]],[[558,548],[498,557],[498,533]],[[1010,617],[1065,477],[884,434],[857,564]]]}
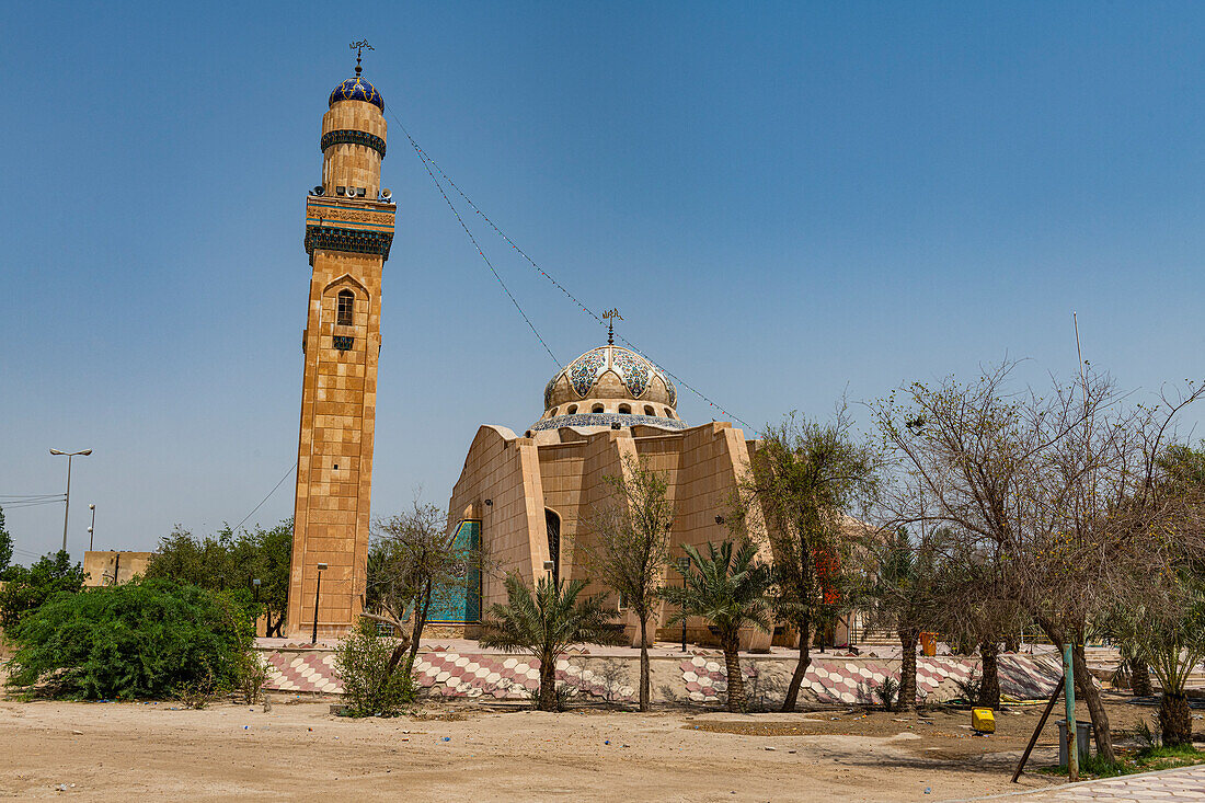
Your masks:
{"label": "clear blue sky above the mosque and trees", "polygon": [[[293,464],[304,197],[363,36],[474,200],[758,427],[1005,356],[1069,376],[1072,310],[1124,387],[1201,374],[1199,4],[10,2],[0,31],[0,494],[94,449],[76,555],[89,502],[98,547],[149,549]],[[556,370],[389,134],[375,514],[446,504]],[[476,230],[558,358],[601,341]],[[292,505],[290,479],[252,522]],[[17,557],[61,517],[10,510]]]}

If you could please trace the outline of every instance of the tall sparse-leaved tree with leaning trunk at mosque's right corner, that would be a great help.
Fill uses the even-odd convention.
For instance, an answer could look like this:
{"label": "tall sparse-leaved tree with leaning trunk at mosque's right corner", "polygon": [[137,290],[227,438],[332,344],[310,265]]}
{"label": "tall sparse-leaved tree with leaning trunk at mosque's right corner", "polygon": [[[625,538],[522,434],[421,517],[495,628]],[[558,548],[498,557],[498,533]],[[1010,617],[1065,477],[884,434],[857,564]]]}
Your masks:
{"label": "tall sparse-leaved tree with leaning trunk at mosque's right corner", "polygon": [[[799,633],[799,660],[783,711],[792,711],[811,664],[812,629],[837,602],[845,575],[857,569],[862,526],[850,517],[878,483],[878,456],[852,434],[842,403],[831,422],[794,412],[768,427],[741,483],[733,527],[769,541],[774,555],[775,615]],[[759,509],[765,518],[751,521]]]}

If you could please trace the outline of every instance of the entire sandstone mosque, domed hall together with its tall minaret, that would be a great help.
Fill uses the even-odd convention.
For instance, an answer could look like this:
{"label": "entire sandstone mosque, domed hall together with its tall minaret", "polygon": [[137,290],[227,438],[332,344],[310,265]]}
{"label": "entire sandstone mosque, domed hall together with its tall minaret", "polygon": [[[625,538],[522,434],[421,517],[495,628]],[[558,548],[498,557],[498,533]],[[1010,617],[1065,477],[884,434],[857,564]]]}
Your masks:
{"label": "entire sandstone mosque, domed hall together with its tall minaret", "polygon": [[[293,639],[345,634],[366,588],[381,281],[395,205],[381,187],[384,100],[360,72],[357,59],[355,76],[330,94],[322,183],[306,198],[311,280],[287,625]],[[552,377],[543,414],[523,435],[500,424],[477,429],[452,491],[449,537],[482,544],[496,570],[468,578],[463,593],[441,594],[429,633],[476,635],[488,605],[505,602],[509,573],[533,584],[588,580],[586,523],[612,493],[606,477],[624,476],[636,461],[669,480],[675,559],[684,544],[729,538],[724,516],[756,449],[730,423],[689,426],[677,414],[670,377],[609,339]],[[757,526],[760,511],[751,516]],[[677,576],[669,574],[666,581]],[[659,611],[656,638],[682,638],[665,620]],[[639,638],[635,617],[627,615],[625,625]],[[687,631],[687,638],[709,637],[701,620]],[[770,639],[754,632],[743,640],[768,646]]]}

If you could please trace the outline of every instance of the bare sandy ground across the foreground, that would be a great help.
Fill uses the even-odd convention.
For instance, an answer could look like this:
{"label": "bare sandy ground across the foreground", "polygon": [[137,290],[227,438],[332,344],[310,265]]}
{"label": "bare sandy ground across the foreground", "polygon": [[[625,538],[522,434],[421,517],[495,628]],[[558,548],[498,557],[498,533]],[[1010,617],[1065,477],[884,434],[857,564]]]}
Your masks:
{"label": "bare sandy ground across the foreground", "polygon": [[[1017,791],[1009,776],[1038,716],[1000,715],[997,734],[981,738],[963,727],[964,711],[928,723],[844,709],[545,714],[466,704],[348,720],[327,702],[283,697],[268,713],[172,705],[0,702],[0,796],[933,802]],[[1119,727],[1148,714],[1113,708]],[[1031,766],[1053,762],[1054,734],[1050,726]],[[1019,787],[1051,783],[1027,774]]]}

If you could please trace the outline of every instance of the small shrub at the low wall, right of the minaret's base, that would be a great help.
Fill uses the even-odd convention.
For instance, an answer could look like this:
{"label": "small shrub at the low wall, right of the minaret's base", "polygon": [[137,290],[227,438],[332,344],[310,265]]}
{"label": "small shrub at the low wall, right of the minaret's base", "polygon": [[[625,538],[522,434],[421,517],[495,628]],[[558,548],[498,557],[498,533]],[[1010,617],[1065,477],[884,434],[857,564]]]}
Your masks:
{"label": "small shrub at the low wall, right of the minaret's base", "polygon": [[362,619],[339,643],[335,666],[343,680],[351,716],[396,716],[415,701],[415,679],[396,660],[395,639],[377,633],[376,622]]}

